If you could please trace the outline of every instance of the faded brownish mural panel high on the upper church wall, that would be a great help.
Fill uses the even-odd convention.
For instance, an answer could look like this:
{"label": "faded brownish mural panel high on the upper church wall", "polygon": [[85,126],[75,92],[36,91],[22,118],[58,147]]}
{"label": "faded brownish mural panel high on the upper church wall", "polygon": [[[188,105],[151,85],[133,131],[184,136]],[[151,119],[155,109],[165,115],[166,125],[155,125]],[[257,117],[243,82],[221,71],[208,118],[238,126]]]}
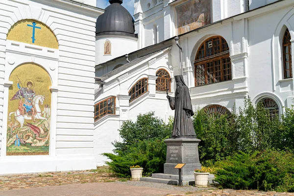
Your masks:
{"label": "faded brownish mural panel high on the upper church wall", "polygon": [[178,35],[211,23],[210,0],[189,0],[175,7]]}

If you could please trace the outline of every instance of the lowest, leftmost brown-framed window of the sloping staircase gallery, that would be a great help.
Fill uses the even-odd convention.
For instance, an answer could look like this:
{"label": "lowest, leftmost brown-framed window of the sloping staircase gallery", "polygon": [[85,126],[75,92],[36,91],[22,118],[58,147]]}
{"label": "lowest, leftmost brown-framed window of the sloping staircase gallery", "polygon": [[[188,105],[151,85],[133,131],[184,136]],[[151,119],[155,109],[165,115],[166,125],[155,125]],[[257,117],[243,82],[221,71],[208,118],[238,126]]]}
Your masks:
{"label": "lowest, leftmost brown-framed window of the sloping staircase gallery", "polygon": [[95,121],[107,114],[115,115],[115,97],[106,98],[95,104]]}

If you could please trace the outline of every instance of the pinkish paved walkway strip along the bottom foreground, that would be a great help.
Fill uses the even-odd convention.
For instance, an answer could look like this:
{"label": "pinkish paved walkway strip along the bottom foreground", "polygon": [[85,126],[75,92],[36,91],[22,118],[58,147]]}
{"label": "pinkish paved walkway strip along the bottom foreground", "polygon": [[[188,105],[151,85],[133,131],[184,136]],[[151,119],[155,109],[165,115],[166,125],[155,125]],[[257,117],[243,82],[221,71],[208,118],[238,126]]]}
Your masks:
{"label": "pinkish paved walkway strip along the bottom foreground", "polygon": [[[146,185],[146,186],[144,186]],[[149,182],[100,182],[0,191],[0,196],[294,196],[291,193],[177,187]],[[189,191],[188,191],[189,190]]]}

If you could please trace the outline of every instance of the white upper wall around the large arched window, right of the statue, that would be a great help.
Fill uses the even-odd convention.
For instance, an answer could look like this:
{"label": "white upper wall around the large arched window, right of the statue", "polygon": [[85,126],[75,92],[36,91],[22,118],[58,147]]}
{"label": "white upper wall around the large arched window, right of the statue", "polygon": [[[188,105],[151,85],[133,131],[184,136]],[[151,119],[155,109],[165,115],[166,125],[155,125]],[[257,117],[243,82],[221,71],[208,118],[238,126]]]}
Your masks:
{"label": "white upper wall around the large arched window, right of the statue", "polygon": [[[243,106],[246,95],[257,103],[261,98],[273,98],[279,105],[280,113],[291,107],[293,99],[293,79],[283,79],[281,36],[287,26],[293,36],[294,10],[291,1],[279,4],[270,12],[249,19],[230,19],[222,25],[199,30],[180,37],[183,48],[184,78],[191,88],[192,103],[195,108],[209,104],[220,104],[231,110]],[[267,9],[266,7],[264,8]],[[260,10],[260,12],[263,10]],[[283,27],[284,26],[284,27]],[[261,33],[262,32],[262,33]],[[194,87],[194,59],[200,44],[210,36],[220,35],[230,47],[232,80]],[[171,51],[172,67],[176,69],[178,51]],[[237,110],[238,111],[238,110]]]}

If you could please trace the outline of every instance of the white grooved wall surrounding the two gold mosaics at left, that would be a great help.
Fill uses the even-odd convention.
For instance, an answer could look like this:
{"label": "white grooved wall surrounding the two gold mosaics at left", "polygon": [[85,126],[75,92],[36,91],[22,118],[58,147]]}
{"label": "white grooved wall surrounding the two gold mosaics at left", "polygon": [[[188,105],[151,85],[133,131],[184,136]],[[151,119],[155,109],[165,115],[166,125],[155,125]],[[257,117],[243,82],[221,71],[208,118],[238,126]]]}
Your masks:
{"label": "white grooved wall surrounding the two gold mosaics at left", "polygon": [[[95,23],[102,10],[55,0],[2,0],[0,9],[0,174],[95,168]],[[10,27],[23,19],[48,25],[59,49],[6,40]],[[30,62],[44,67],[52,79],[49,155],[6,156],[9,75]]]}

